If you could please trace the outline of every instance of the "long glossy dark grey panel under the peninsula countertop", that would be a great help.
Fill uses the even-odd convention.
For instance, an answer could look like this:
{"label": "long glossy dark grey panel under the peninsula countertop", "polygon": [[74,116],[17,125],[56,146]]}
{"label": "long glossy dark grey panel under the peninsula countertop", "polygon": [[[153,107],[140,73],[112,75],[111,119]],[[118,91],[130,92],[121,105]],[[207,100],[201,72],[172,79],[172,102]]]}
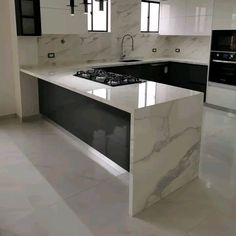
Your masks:
{"label": "long glossy dark grey panel under the peninsula countertop", "polygon": [[39,80],[40,112],[129,171],[130,114]]}

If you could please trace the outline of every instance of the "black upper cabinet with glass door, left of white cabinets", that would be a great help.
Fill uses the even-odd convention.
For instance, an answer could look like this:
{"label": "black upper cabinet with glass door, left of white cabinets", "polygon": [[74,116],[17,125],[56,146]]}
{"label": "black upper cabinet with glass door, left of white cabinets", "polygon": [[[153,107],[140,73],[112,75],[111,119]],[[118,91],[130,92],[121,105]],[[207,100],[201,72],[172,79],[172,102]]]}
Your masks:
{"label": "black upper cabinet with glass door, left of white cabinets", "polygon": [[18,36],[40,36],[40,0],[15,0]]}

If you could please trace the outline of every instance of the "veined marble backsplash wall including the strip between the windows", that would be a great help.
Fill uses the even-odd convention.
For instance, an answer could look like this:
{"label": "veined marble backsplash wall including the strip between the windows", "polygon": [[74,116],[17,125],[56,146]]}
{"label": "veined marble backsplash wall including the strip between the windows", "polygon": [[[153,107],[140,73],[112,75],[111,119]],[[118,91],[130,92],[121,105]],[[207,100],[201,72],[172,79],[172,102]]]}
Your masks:
{"label": "veined marble backsplash wall including the strip between the windows", "polygon": [[[166,37],[157,34],[142,34],[140,32],[140,0],[112,0],[111,3],[110,33],[39,37],[39,63],[117,61],[122,54],[122,37],[127,33],[134,36],[135,42],[135,50],[132,51],[130,39],[125,41],[124,52],[127,57],[139,59],[177,57],[198,60],[207,60],[209,57],[210,37]],[[152,52],[153,48],[156,48],[157,52]],[[175,53],[175,48],[180,48],[181,53]],[[48,59],[49,52],[55,52],[56,59]]]}

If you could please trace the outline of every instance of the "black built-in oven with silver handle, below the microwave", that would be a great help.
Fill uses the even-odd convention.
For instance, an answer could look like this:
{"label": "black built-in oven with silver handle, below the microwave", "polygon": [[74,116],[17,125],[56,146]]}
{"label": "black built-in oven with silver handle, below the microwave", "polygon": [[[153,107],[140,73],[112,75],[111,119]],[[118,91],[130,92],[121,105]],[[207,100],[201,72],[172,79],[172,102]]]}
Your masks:
{"label": "black built-in oven with silver handle, below the microwave", "polygon": [[211,53],[209,81],[236,85],[236,53]]}

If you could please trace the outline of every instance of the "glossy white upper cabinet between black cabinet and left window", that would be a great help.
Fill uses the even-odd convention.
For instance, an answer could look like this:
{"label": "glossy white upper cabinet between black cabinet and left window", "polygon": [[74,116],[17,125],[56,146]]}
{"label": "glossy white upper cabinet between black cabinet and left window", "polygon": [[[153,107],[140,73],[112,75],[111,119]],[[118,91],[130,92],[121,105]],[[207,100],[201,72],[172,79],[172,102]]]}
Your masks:
{"label": "glossy white upper cabinet between black cabinet and left window", "polygon": [[87,32],[87,15],[79,1],[75,4],[75,15],[71,16],[69,0],[40,0],[42,34],[79,34]]}

